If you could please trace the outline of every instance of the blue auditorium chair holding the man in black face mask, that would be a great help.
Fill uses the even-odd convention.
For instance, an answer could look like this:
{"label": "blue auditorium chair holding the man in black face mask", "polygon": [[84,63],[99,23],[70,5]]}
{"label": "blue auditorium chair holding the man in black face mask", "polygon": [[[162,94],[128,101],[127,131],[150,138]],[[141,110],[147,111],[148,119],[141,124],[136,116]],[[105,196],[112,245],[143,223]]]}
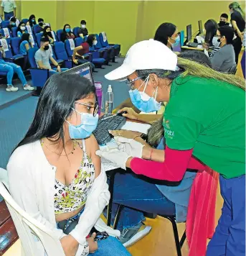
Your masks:
{"label": "blue auditorium chair holding the man in black face mask", "polygon": [[31,65],[30,73],[32,77],[32,84],[37,87],[37,91],[35,92],[35,96],[39,96],[44,84],[46,83],[47,79],[49,78],[49,70],[48,69],[41,69],[37,67],[37,63],[35,61],[35,53],[39,50],[39,48],[31,48],[28,50],[28,60]]}

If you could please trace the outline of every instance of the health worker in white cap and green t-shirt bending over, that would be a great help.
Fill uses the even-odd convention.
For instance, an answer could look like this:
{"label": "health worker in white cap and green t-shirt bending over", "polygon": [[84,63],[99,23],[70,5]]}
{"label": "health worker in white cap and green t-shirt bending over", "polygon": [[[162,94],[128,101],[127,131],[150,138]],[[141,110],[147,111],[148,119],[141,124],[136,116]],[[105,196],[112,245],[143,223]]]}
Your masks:
{"label": "health worker in white cap and green t-shirt bending over", "polygon": [[[169,101],[163,125],[166,149],[115,137],[118,150],[97,151],[120,168],[159,180],[182,180],[200,162],[220,174],[224,206],[207,255],[245,255],[245,82],[190,60],[166,45],[133,45],[123,65],[105,76],[128,79],[131,101],[152,112]],[[230,100],[229,100],[230,99]]]}

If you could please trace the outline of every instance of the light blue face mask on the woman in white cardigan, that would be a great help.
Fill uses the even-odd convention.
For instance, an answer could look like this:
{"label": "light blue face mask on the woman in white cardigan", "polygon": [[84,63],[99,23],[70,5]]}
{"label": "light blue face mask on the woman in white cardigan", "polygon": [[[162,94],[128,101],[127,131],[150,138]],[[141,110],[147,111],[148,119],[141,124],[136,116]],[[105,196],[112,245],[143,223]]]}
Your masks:
{"label": "light blue face mask on the woman in white cardigan", "polygon": [[[73,109],[76,111],[75,109]],[[69,134],[71,139],[85,139],[90,137],[90,135],[95,131],[95,128],[98,126],[98,114],[93,116],[93,114],[88,113],[79,113],[81,116],[81,124],[72,125],[69,122]]]}

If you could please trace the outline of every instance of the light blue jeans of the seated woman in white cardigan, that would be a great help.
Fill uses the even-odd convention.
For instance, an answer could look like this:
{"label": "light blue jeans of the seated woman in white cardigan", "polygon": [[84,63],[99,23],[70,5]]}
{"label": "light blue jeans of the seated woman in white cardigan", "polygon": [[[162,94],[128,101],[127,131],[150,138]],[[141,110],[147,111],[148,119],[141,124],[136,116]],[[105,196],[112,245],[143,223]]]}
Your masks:
{"label": "light blue jeans of the seated woman in white cardigan", "polygon": [[131,253],[123,247],[123,244],[115,237],[108,237],[98,241],[98,250],[89,253],[93,256],[131,256]]}

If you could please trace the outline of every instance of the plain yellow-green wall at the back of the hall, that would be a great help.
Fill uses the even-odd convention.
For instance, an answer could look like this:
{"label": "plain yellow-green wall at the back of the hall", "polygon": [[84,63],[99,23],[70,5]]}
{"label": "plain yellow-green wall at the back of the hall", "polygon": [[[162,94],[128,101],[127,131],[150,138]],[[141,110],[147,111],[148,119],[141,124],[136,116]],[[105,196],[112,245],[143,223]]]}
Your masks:
{"label": "plain yellow-green wall at the back of the hall", "polygon": [[[17,16],[26,18],[35,14],[61,29],[65,23],[80,26],[87,21],[90,33],[105,31],[111,43],[121,45],[121,53],[135,42],[153,37],[159,24],[172,22],[179,30],[192,24],[192,33],[198,30],[198,20],[219,20],[222,12],[229,13],[230,1],[16,1]],[[245,1],[239,1],[245,9]]]}

